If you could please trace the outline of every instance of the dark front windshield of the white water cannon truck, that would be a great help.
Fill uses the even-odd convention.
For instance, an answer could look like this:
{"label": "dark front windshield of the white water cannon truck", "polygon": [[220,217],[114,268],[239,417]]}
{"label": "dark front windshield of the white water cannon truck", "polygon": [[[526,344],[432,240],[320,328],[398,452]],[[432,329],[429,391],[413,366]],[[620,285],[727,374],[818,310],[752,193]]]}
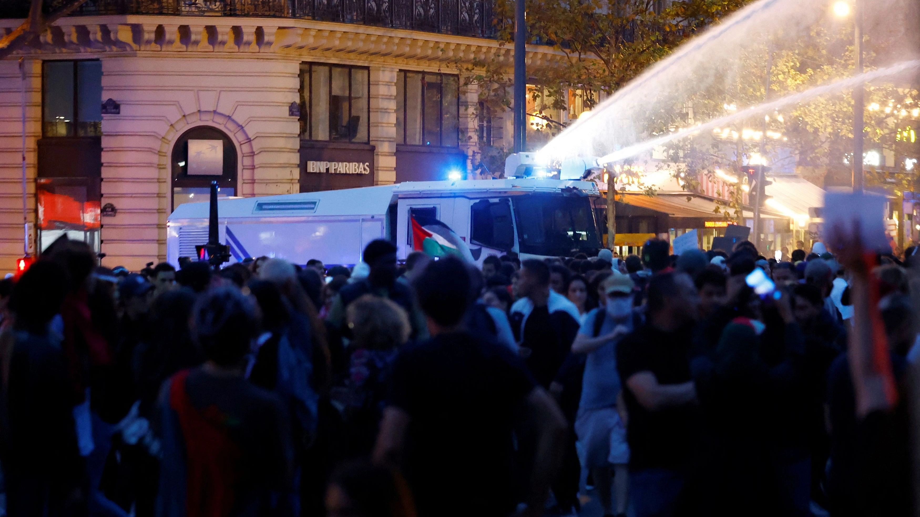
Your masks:
{"label": "dark front windshield of the white water cannon truck", "polygon": [[513,203],[521,253],[571,256],[601,247],[588,197],[529,194]]}

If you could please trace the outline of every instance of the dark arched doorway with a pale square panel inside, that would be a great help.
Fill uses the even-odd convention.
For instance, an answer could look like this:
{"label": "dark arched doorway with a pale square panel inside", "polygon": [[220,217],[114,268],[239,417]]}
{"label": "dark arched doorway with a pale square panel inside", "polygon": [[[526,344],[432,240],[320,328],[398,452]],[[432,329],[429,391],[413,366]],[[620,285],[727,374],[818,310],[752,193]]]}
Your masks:
{"label": "dark arched doorway with a pale square panel inside", "polygon": [[171,209],[207,201],[212,181],[220,187],[219,197],[236,196],[238,163],[236,146],[224,131],[198,126],[182,133],[170,157]]}

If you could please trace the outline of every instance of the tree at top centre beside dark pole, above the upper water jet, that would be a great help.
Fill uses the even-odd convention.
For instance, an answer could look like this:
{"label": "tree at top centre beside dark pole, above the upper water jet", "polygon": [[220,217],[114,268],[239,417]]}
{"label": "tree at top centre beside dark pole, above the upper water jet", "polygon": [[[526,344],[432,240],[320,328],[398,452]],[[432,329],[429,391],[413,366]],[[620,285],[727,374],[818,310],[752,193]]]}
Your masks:
{"label": "tree at top centre beside dark pole, above the upper water jet", "polygon": [[[591,109],[606,96],[661,60],[698,30],[729,15],[750,0],[528,0],[530,41],[565,55],[558,66],[528,69],[536,87],[528,92],[535,109],[528,115],[541,121],[535,135],[552,137],[566,122],[552,112],[567,111],[570,97]],[[514,0],[498,0],[497,38],[512,42]],[[466,84],[478,86],[479,101],[492,112],[512,107],[512,76],[496,56],[490,62],[465,67]],[[463,68],[463,67],[462,67]],[[478,114],[481,116],[481,114]],[[609,171],[613,184],[613,170]],[[608,189],[609,191],[610,189]],[[608,244],[615,239],[613,192],[608,193]]]}

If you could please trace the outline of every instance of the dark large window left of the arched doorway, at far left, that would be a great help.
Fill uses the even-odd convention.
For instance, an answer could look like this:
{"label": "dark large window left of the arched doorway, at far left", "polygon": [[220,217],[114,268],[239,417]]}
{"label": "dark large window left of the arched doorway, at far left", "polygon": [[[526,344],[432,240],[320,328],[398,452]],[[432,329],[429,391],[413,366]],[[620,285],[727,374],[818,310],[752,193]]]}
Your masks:
{"label": "dark large window left of the arched doorway, at far left", "polygon": [[102,135],[102,62],[46,61],[41,80],[43,136]]}

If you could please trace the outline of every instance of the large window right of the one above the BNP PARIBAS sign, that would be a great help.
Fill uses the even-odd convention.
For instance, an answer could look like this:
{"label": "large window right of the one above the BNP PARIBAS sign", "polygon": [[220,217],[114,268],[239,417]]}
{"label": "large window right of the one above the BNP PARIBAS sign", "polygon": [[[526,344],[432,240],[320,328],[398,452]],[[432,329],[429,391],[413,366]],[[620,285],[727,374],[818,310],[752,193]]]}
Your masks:
{"label": "large window right of the one above the BNP PARIBAS sign", "polygon": [[446,73],[400,72],[397,77],[397,142],[457,147],[460,80]]}

